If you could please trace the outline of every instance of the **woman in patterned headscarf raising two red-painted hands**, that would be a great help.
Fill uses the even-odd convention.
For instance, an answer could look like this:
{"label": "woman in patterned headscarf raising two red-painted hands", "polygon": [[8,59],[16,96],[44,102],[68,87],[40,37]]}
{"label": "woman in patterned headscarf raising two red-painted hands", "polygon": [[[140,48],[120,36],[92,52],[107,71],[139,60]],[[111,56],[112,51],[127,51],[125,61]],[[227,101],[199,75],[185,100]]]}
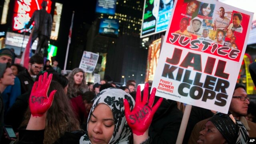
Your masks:
{"label": "woman in patterned headscarf raising two red-painted hands", "polygon": [[[42,143],[44,139],[45,119],[47,110],[50,108],[54,93],[50,92],[47,96],[49,84],[52,75],[44,74],[35,82],[31,98],[42,98],[40,102],[30,101],[31,117],[26,130],[20,130],[20,144],[25,143]],[[148,128],[152,122],[154,113],[160,106],[163,98],[154,103],[156,88],[153,88],[148,100],[148,84],[145,84],[143,99],[141,100],[140,86],[136,95],[136,105],[130,94],[117,88],[107,88],[102,90],[94,99],[94,103],[88,118],[87,130],[82,137],[73,134],[64,135],[58,143],[68,142],[81,144],[94,143],[130,143],[132,136],[134,143],[148,143]],[[138,117],[139,116],[139,117]],[[130,128],[129,128],[130,127]],[[133,134],[131,136],[131,134]],[[33,135],[33,136],[32,136]],[[72,139],[70,139],[72,137]],[[130,141],[129,141],[130,140]]]}

